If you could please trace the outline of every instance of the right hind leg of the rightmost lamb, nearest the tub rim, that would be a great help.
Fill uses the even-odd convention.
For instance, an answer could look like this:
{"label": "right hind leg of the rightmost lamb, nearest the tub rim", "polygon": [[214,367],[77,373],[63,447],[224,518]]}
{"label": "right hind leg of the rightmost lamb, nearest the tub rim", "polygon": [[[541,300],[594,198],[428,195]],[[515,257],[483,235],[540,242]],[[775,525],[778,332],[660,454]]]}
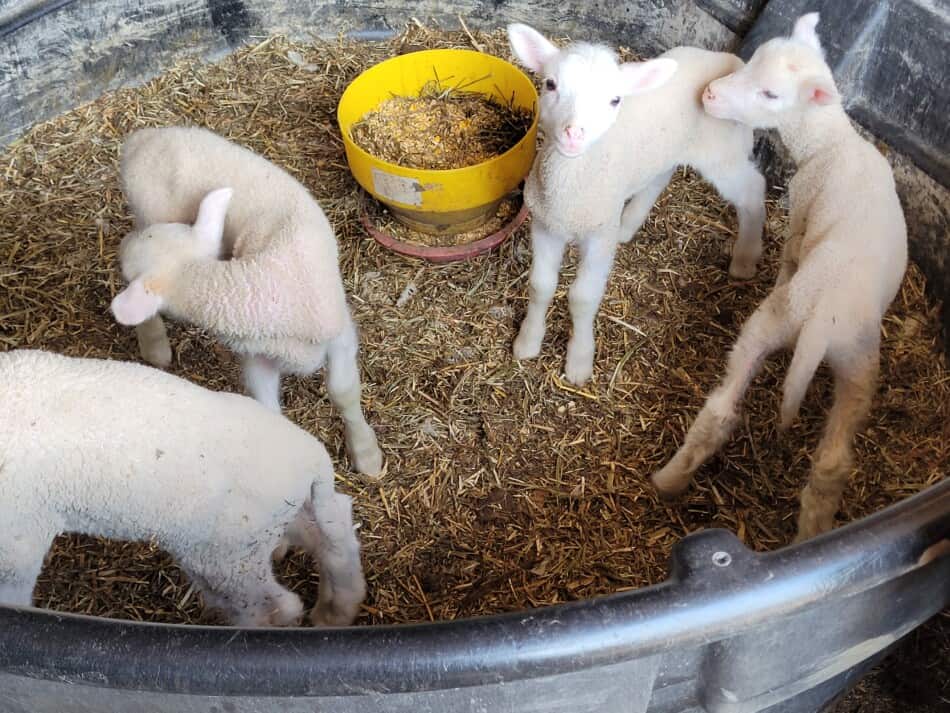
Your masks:
{"label": "right hind leg of the rightmost lamb, nearest the tub rim", "polygon": [[877,388],[879,340],[876,332],[869,339],[873,345],[861,355],[841,358],[834,352],[829,354],[835,375],[835,400],[812,459],[808,485],[802,491],[796,542],[834,527],[841,494],[854,468],[854,437],[871,410]]}

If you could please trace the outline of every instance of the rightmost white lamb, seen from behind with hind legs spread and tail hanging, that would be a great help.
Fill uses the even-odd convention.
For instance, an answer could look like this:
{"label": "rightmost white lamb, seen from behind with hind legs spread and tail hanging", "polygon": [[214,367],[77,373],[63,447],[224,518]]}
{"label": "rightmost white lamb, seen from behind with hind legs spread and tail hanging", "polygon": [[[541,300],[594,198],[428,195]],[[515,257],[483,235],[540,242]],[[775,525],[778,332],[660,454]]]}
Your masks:
{"label": "rightmost white lamb, seen from behind with hind legs spread and tail hanging", "polygon": [[817,23],[817,13],[803,15],[791,38],[766,42],[743,69],[712,82],[703,96],[714,116],[777,128],[798,172],[789,184],[789,237],[775,288],[743,326],[722,385],[682,447],[653,476],[663,493],[686,488],[729,437],[739,401],[769,354],[795,348],[785,378],[783,428],[827,360],[835,399],[802,492],[799,540],[834,524],[854,464],[852,441],[877,385],[881,318],[907,266],[893,174],[845,114]]}

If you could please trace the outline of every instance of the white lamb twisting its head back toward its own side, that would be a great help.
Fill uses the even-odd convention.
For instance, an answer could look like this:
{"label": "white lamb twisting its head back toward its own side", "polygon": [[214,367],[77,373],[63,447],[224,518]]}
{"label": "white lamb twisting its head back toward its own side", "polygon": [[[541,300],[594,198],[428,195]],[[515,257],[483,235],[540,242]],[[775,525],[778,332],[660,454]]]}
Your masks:
{"label": "white lamb twisting its head back toward its own side", "polygon": [[142,356],[156,366],[171,361],[160,313],[199,325],[243,355],[248,392],[275,411],[282,372],[307,375],[326,361],[350,458],[378,474],[383,455],[360,406],[336,240],[307,189],[199,128],[136,131],[121,171],[136,229],[120,247],[129,286],[112,311],[137,325]]}

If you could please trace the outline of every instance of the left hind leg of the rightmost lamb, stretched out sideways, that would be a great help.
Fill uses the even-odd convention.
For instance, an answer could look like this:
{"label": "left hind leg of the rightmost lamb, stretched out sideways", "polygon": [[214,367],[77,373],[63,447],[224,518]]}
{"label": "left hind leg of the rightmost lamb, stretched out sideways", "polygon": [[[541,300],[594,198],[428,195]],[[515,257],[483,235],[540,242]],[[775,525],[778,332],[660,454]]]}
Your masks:
{"label": "left hind leg of the rightmost lamb, stretched out sideways", "polygon": [[796,329],[785,317],[786,297],[786,290],[773,292],[743,325],[722,384],[709,395],[676,455],[651,478],[661,494],[683,492],[697,468],[725,443],[739,422],[739,402],[765,358],[794,337]]}

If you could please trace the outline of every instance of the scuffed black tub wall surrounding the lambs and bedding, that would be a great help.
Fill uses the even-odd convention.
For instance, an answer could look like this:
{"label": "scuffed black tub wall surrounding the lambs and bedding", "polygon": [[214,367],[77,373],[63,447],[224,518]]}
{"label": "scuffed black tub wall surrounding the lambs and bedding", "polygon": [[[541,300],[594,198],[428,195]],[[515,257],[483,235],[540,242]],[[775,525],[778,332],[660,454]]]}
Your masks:
{"label": "scuffed black tub wall surrounding the lambs and bedding", "polygon": [[[846,93],[860,97],[853,113],[924,169],[908,160],[898,167],[898,183],[905,205],[924,201],[908,216],[912,254],[935,296],[950,304],[950,203],[941,185],[946,125],[932,120],[945,115],[937,108],[947,101],[946,78],[918,72],[903,77],[914,91],[888,93],[887,77],[852,66],[861,42],[887,36],[882,23],[901,32],[902,21],[931,5],[0,0],[0,143],[103,91],[139,83],[183,53],[222,56],[252,35],[320,28],[372,39],[410,16],[452,25],[462,14],[476,26],[527,20],[647,54],[675,44],[742,50],[751,27],[742,50],[748,52],[750,43],[786,31],[800,10],[818,7],[830,27],[850,28],[829,32],[829,59],[845,75]],[[888,22],[888,13],[896,20]],[[870,29],[856,32],[855,22]],[[926,32],[905,55],[941,56],[950,33],[939,22],[933,37],[926,23],[909,26]],[[933,98],[933,115],[909,106],[905,95],[921,94]],[[674,550],[673,574],[661,585],[520,614],[399,627],[237,630],[0,606],[0,711],[810,712],[950,604],[950,557],[931,559],[948,538],[945,480],[773,553],[752,553],[725,531],[697,533]]]}

